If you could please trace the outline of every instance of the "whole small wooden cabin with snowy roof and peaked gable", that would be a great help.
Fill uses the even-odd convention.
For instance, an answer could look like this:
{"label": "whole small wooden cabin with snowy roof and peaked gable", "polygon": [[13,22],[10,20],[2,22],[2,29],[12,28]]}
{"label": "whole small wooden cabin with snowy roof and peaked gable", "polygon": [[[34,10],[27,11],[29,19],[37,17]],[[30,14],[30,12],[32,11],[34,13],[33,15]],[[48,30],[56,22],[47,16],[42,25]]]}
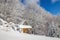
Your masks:
{"label": "whole small wooden cabin with snowy roof and peaked gable", "polygon": [[32,33],[32,27],[28,25],[26,20],[21,22],[19,29],[21,33]]}

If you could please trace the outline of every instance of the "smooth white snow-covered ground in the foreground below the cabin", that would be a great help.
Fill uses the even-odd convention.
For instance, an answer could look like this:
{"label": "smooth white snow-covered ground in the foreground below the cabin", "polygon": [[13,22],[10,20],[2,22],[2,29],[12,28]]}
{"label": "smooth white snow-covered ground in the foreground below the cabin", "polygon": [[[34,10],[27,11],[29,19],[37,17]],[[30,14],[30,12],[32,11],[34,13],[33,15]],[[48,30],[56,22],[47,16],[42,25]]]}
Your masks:
{"label": "smooth white snow-covered ground in the foreground below the cabin", "polygon": [[59,38],[30,35],[25,33],[18,33],[16,31],[1,31],[0,40],[60,40]]}

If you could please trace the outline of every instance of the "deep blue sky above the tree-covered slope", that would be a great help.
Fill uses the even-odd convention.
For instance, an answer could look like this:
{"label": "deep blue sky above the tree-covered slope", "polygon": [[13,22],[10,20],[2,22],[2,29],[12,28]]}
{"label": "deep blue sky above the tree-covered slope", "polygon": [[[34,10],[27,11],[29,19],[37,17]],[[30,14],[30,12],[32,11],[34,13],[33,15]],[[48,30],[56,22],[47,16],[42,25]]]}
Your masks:
{"label": "deep blue sky above the tree-covered slope", "polygon": [[[25,0],[22,0],[22,2],[24,1]],[[33,0],[33,1],[37,1],[37,0]],[[39,5],[53,15],[60,14],[60,0],[40,0]]]}

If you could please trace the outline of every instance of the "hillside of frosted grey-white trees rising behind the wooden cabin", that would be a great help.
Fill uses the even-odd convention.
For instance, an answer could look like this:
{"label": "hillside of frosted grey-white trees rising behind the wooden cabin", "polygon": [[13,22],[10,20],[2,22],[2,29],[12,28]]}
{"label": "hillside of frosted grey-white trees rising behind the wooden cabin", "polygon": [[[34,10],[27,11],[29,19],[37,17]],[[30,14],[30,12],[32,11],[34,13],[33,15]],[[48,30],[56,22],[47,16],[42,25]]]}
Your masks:
{"label": "hillside of frosted grey-white trees rising behind the wooden cabin", "polygon": [[39,0],[21,1],[0,0],[0,18],[6,22],[0,21],[0,29],[16,30],[15,24],[26,20],[27,25],[32,26],[32,34],[60,38],[60,16],[52,16],[37,4]]}

